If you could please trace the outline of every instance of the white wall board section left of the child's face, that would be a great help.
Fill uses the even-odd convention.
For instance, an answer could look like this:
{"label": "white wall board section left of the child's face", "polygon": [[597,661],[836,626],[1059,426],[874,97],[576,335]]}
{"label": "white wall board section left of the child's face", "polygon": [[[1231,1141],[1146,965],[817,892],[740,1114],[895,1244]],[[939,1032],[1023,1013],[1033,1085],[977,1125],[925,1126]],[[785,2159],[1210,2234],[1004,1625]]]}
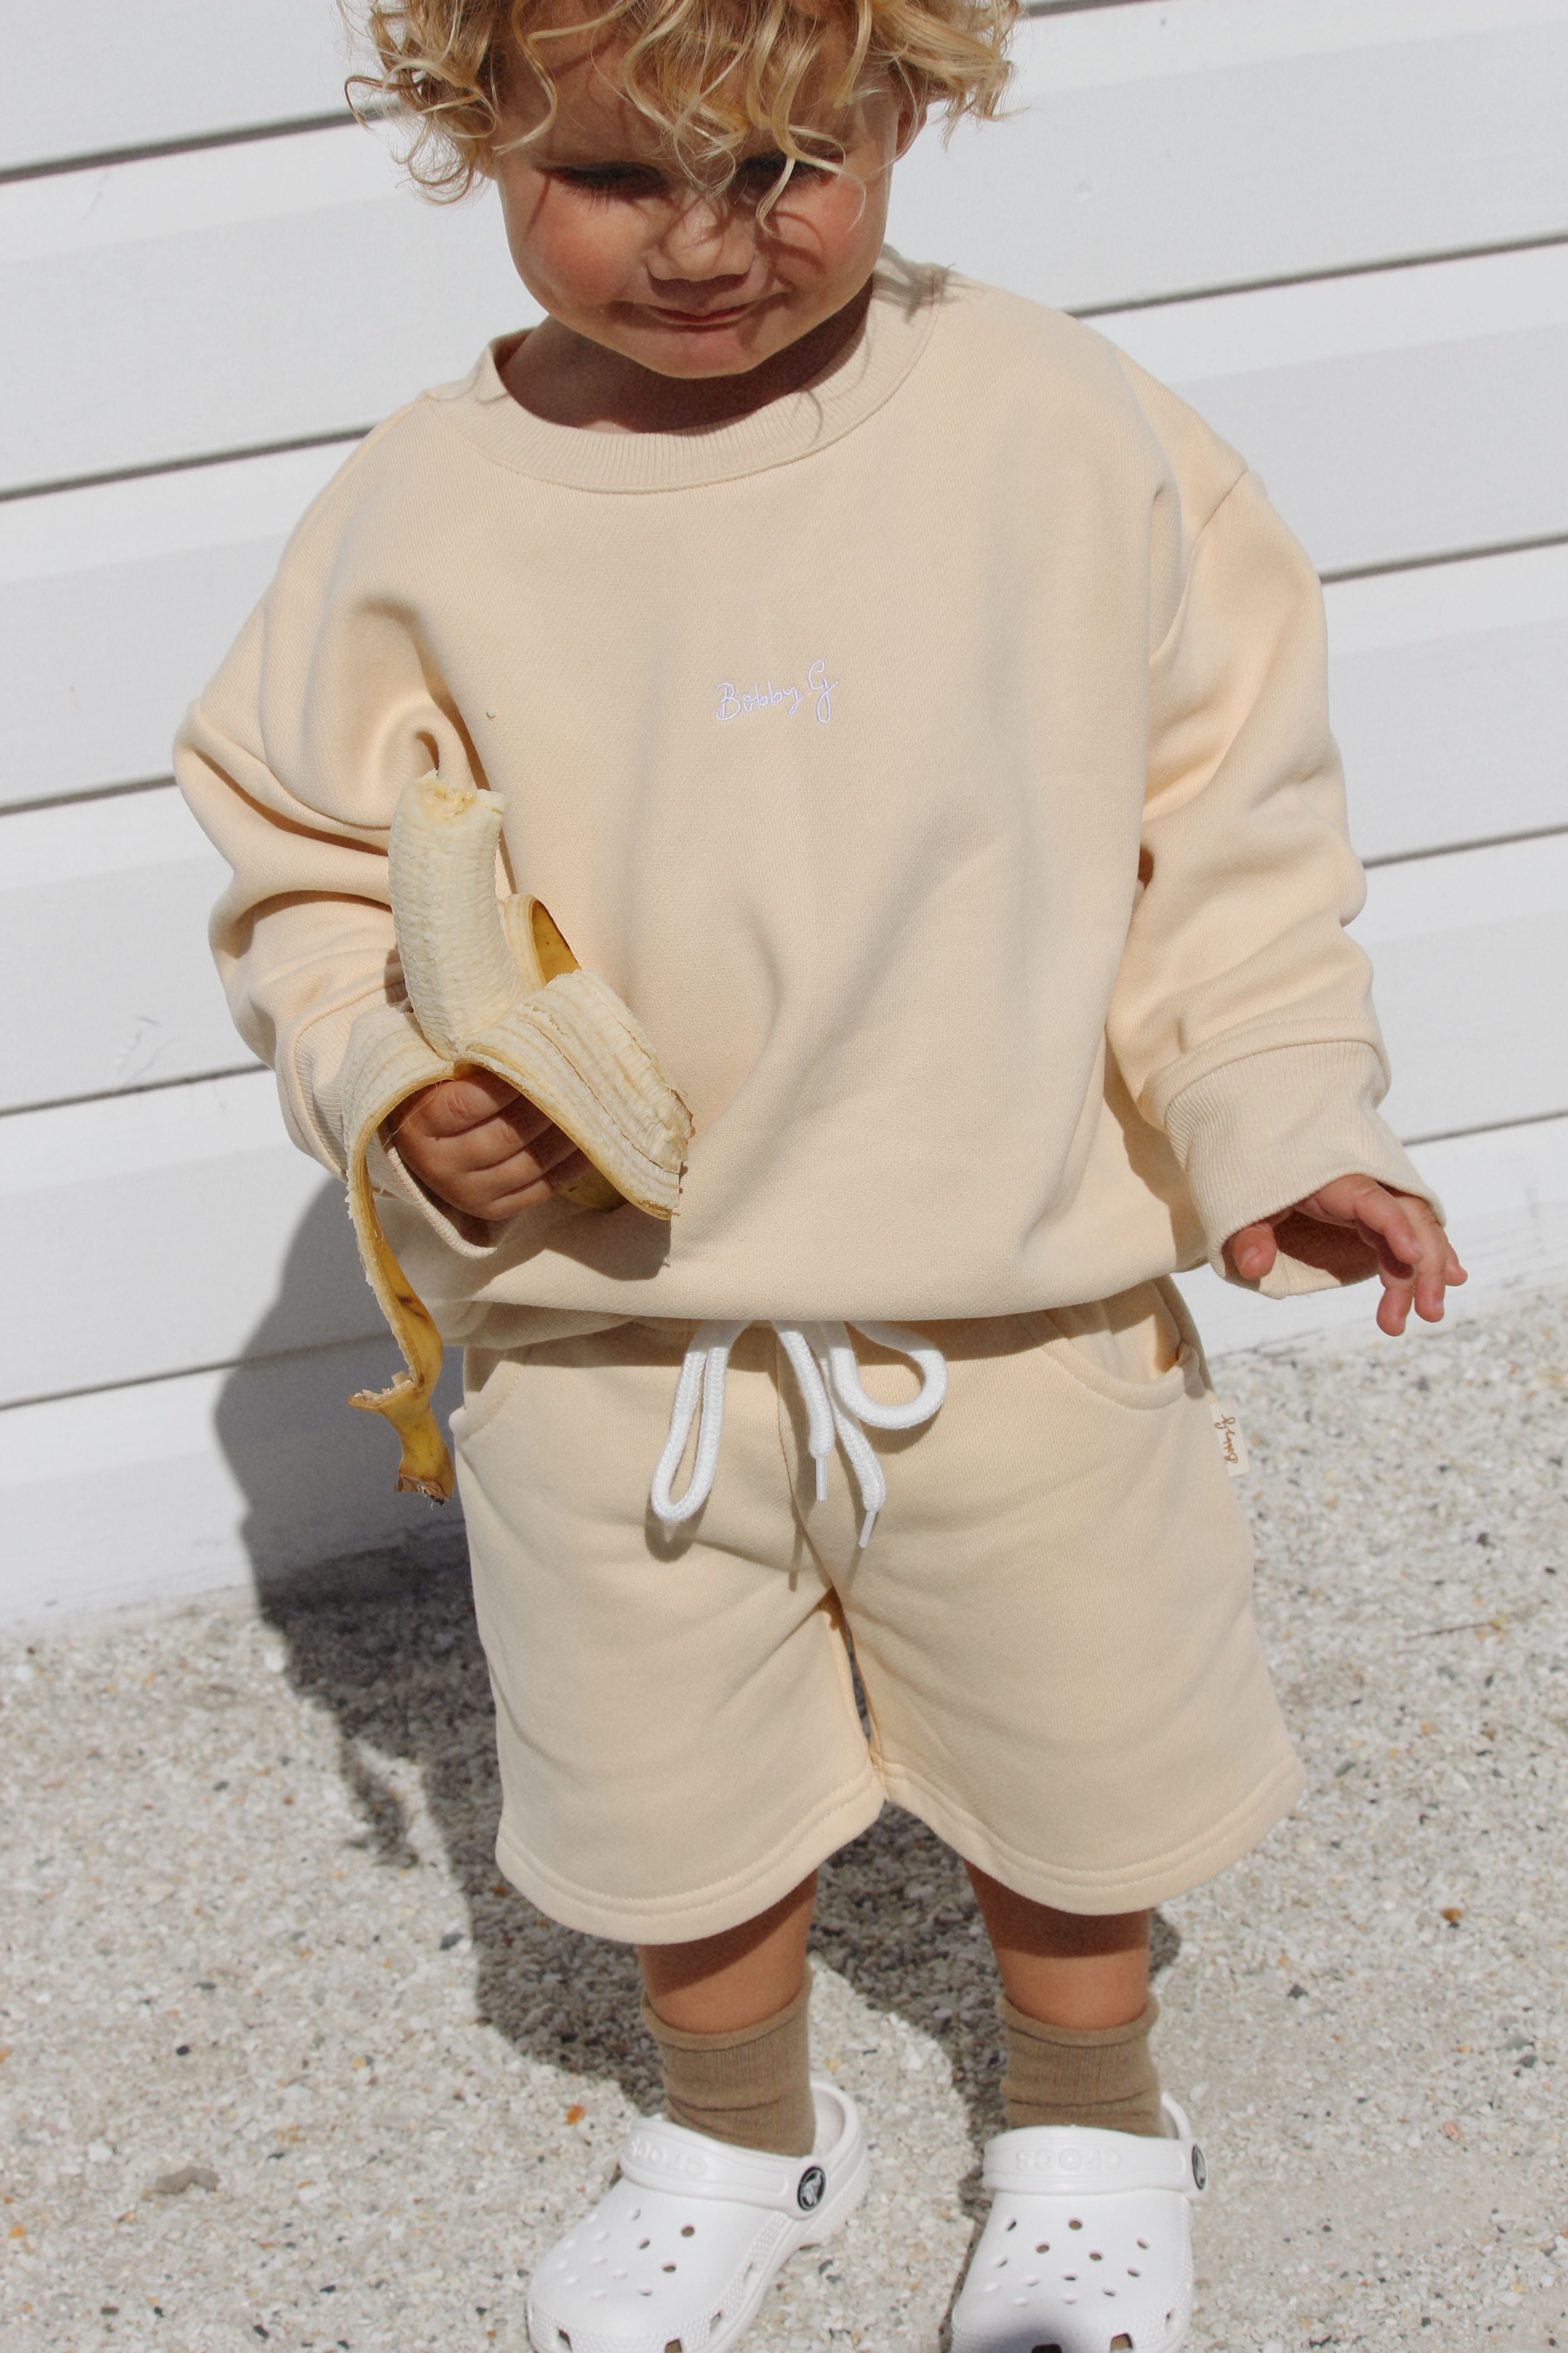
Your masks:
{"label": "white wall board section left of the child's face", "polygon": [[538,318],[494,195],[357,125],[0,188],[0,487],[350,431]]}

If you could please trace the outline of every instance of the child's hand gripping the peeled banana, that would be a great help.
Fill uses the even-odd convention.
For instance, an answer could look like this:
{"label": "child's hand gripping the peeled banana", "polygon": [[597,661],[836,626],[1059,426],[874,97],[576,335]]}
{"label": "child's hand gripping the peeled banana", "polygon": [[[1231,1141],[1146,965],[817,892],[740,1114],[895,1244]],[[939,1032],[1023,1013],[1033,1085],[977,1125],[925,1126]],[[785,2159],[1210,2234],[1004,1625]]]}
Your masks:
{"label": "child's hand gripping the peeled banana", "polygon": [[538,1209],[588,1172],[571,1136],[491,1071],[447,1078],[400,1104],[381,1129],[449,1209],[501,1219]]}

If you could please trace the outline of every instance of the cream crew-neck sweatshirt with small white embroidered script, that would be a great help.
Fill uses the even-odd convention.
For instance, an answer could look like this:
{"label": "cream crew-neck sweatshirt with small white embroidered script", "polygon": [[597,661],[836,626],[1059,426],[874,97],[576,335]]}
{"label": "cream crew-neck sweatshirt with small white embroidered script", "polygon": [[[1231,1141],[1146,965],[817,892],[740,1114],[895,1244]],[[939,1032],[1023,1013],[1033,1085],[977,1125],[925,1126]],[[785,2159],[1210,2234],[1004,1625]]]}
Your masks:
{"label": "cream crew-neck sweatshirt with small white embroidered script", "polygon": [[505,798],[696,1115],[672,1226],[482,1226],[383,1158],[447,1339],[1001,1315],[1338,1174],[1427,1191],[1375,1113],[1312,567],[1037,304],[889,254],[853,351],[741,424],[550,426],[491,351],[343,466],[176,748],[235,1021],[339,1172],[430,765]]}

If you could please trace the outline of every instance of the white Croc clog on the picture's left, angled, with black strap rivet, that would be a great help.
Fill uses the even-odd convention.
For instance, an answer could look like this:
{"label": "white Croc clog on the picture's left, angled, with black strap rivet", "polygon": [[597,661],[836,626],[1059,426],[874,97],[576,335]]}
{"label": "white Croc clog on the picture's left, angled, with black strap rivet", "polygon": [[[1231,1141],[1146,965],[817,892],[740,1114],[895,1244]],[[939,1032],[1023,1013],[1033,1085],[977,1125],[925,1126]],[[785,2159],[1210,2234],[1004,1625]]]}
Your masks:
{"label": "white Croc clog on the picture's left, angled, with black strap rivet", "polygon": [[809,2158],[639,2122],[621,2174],[529,2280],[534,2353],[726,2353],[797,2247],[865,2198],[860,2113],[813,2082]]}

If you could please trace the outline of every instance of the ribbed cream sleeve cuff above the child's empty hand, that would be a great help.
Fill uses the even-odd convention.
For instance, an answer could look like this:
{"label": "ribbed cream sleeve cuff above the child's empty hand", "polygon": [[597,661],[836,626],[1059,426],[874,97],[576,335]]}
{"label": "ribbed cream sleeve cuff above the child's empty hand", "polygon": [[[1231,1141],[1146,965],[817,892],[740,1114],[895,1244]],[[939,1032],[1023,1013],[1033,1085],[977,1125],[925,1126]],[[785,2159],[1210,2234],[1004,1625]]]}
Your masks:
{"label": "ribbed cream sleeve cuff above the child's empty hand", "polygon": [[[1227,1282],[1225,1242],[1276,1217],[1335,1176],[1373,1176],[1394,1193],[1441,1202],[1394,1132],[1378,1118],[1385,1078],[1375,1047],[1359,1040],[1281,1045],[1246,1054],[1182,1087],[1166,1106],[1166,1134],[1204,1226],[1208,1264]],[[1347,1228],[1298,1219],[1279,1231],[1279,1259],[1262,1282],[1269,1299],[1363,1282],[1378,1271]]]}

